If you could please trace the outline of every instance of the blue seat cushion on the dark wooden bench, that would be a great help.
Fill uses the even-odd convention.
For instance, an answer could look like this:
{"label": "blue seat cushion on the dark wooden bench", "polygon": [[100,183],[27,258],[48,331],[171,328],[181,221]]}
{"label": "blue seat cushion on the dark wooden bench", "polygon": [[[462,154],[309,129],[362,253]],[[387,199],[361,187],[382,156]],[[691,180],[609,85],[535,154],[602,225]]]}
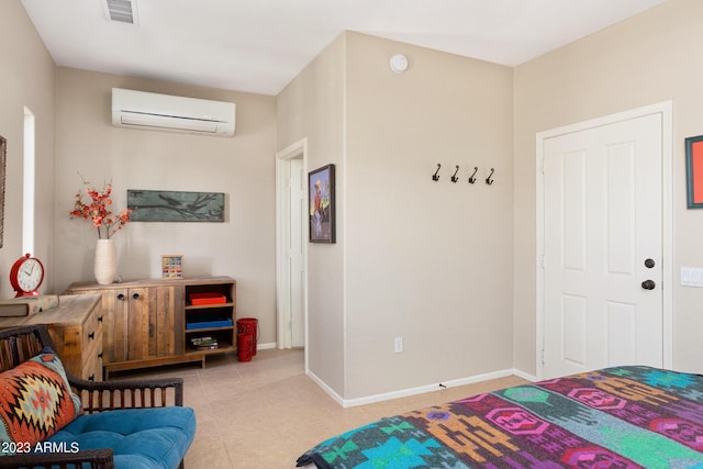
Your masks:
{"label": "blue seat cushion on the dark wooden bench", "polygon": [[115,468],[174,469],[194,436],[193,410],[168,406],[81,415],[48,440],[69,450],[112,448]]}

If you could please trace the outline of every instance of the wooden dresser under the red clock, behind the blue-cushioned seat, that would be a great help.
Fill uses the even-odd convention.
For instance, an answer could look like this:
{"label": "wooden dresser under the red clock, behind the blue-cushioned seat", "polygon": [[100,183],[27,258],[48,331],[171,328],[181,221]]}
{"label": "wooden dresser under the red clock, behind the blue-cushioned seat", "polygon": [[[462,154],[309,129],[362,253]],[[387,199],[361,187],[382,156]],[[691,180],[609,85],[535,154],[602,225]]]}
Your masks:
{"label": "wooden dresser under the red clock, behind the blue-cushioned seat", "polygon": [[75,376],[102,381],[102,309],[99,294],[59,297],[58,308],[29,316],[0,317],[0,328],[47,324],[64,366]]}

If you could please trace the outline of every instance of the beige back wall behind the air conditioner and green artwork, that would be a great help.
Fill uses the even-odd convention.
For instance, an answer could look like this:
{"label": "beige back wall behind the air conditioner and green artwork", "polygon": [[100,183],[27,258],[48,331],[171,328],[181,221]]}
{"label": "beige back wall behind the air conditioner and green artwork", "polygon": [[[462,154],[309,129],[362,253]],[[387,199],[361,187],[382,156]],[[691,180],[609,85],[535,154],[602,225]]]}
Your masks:
{"label": "beige back wall behind the air conditioner and green artwork", "polygon": [[[119,129],[113,87],[232,101],[233,138]],[[224,223],[133,222],[119,232],[119,273],[158,278],[163,254],[182,254],[185,275],[237,280],[237,315],[259,319],[260,343],[276,342],[274,97],[58,68],[56,74],[56,290],[92,280],[97,234],[70,220],[80,172],[96,186],[112,179],[114,208],[127,189],[225,193]]]}

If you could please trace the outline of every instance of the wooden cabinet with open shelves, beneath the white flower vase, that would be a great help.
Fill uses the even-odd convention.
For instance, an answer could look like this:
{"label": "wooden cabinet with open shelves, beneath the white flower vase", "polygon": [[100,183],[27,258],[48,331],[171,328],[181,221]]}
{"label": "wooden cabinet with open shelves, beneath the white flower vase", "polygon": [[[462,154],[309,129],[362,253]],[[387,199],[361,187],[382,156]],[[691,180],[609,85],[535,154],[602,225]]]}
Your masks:
{"label": "wooden cabinet with open shelves, beneath the white flower vase", "polygon": [[[204,368],[205,356],[236,349],[236,282],[230,277],[144,279],[107,286],[76,282],[66,293],[99,293],[102,298],[105,380],[112,371],[188,361],[200,361]],[[191,293],[220,293],[226,302],[191,305]],[[187,330],[189,322],[207,314],[220,314],[231,325]],[[217,348],[197,349],[191,344],[197,334],[216,337]]]}

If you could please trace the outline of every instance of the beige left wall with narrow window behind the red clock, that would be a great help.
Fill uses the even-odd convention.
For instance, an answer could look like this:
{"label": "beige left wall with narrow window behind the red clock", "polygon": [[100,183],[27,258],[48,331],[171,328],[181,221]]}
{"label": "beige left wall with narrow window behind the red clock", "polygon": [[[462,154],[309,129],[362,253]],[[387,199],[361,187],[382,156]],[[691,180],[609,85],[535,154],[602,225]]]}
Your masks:
{"label": "beige left wall with narrow window behind the red clock", "polygon": [[35,242],[32,253],[54,286],[54,62],[19,1],[0,2],[0,135],[8,141],[4,243],[0,249],[0,298],[14,291],[9,272],[22,252],[24,108],[35,116]]}

